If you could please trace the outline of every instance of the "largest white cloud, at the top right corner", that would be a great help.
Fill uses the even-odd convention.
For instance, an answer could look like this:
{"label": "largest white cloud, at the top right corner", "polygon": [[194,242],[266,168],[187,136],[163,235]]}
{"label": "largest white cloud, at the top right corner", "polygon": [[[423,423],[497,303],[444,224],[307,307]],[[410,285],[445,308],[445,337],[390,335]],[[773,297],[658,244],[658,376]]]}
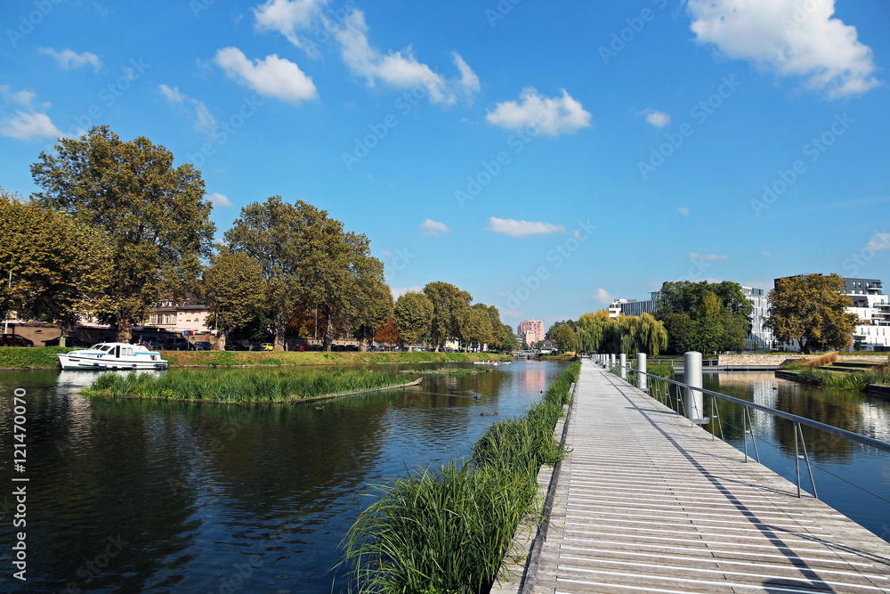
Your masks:
{"label": "largest white cloud, at the top right corner", "polygon": [[692,32],[732,59],[801,77],[829,98],[878,85],[868,45],[833,19],[835,0],[689,0]]}

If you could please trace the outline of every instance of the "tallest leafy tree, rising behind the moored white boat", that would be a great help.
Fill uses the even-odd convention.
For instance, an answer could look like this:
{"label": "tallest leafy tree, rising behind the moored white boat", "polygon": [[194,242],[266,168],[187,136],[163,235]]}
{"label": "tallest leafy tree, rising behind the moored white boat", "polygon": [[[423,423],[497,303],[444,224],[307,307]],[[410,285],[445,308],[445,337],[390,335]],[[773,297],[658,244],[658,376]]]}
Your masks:
{"label": "tallest leafy tree, rising behind the moored white boat", "polygon": [[54,154],[41,152],[31,175],[43,188],[35,194],[41,206],[103,234],[109,275],[93,311],[118,340],[129,342],[159,293],[181,289],[198,257],[210,255],[215,227],[204,180],[190,164],[174,167],[173,153],[148,138],[125,142],[96,126],[61,138]]}

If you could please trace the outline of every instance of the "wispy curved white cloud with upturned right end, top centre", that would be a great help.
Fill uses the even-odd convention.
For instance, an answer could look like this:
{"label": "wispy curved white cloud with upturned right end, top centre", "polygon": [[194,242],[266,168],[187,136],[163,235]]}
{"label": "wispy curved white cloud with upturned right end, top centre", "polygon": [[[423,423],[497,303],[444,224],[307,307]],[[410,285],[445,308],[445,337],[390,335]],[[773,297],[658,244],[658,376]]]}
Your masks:
{"label": "wispy curved white cloud with upturned right end, top centre", "polygon": [[368,86],[375,86],[379,81],[399,89],[423,87],[431,103],[443,105],[452,105],[458,100],[472,101],[473,94],[480,90],[479,77],[457,52],[452,52],[451,58],[459,78],[442,77],[417,61],[410,46],[399,52],[381,54],[368,42],[368,24],[360,10],[349,13],[344,26],[336,29],[335,37],[346,65],[353,74],[364,78]]}

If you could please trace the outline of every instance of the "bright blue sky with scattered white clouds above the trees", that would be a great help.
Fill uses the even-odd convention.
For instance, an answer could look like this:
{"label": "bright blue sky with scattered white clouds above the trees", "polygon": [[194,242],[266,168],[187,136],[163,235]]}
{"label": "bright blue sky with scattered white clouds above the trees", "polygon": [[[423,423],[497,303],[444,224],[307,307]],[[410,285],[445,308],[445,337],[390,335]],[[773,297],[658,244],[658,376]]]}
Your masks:
{"label": "bright blue sky with scattered white clouds above the trees", "polygon": [[8,0],[0,186],[107,124],[191,162],[228,229],[271,195],[393,289],[577,318],[662,281],[887,277],[876,0]]}

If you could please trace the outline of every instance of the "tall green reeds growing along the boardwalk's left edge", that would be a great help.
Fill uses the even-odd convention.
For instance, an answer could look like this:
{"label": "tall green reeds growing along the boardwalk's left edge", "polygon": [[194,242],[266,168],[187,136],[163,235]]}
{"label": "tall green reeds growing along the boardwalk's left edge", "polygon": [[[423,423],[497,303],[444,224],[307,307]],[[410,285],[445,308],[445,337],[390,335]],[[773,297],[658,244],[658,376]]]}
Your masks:
{"label": "tall green reeds growing along the boardwalk's left edge", "polygon": [[554,440],[578,363],[519,419],[496,423],[466,463],[392,480],[344,538],[353,590],[488,592],[519,525],[538,522],[538,469],[562,458]]}

